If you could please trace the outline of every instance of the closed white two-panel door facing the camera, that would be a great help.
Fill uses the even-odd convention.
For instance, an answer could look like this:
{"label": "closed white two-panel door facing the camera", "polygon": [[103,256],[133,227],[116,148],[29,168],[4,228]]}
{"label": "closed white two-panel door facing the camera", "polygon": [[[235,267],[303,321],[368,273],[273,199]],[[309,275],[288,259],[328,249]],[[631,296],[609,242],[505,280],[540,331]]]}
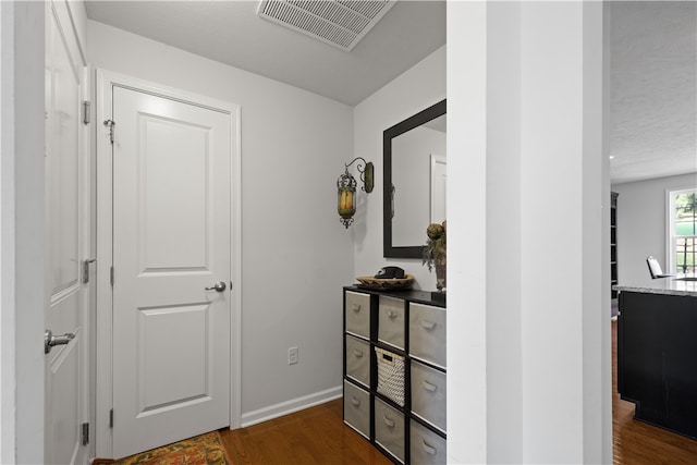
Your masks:
{"label": "closed white two-panel door facing the camera", "polygon": [[119,86],[112,113],[122,457],[230,425],[231,117]]}

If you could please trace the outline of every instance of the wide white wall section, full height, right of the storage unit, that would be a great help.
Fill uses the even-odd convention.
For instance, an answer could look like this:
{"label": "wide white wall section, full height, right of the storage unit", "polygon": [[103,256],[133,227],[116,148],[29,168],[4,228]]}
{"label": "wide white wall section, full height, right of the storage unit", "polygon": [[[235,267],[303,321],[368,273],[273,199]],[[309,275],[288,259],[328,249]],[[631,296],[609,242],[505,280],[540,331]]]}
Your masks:
{"label": "wide white wall section, full height, right of the storage unit", "polygon": [[602,4],[448,26],[449,462],[609,463]]}

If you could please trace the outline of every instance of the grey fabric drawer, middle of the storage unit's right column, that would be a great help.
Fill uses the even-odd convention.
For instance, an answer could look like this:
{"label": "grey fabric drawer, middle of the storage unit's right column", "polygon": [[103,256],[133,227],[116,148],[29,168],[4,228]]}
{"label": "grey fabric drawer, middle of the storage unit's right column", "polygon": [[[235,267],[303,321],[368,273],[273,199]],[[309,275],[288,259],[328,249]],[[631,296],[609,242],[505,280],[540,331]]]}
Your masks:
{"label": "grey fabric drawer, middle of the storage unit's right column", "polygon": [[445,432],[447,377],[412,360],[412,413]]}

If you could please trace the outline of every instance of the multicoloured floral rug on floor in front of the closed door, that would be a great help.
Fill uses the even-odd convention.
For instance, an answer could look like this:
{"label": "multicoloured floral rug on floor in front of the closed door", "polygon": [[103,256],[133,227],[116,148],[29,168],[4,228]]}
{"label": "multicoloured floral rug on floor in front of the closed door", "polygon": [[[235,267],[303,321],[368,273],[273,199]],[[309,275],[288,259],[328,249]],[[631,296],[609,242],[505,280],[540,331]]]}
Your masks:
{"label": "multicoloured floral rug on floor in front of the closed door", "polygon": [[218,431],[174,442],[118,461],[95,458],[93,465],[230,465]]}

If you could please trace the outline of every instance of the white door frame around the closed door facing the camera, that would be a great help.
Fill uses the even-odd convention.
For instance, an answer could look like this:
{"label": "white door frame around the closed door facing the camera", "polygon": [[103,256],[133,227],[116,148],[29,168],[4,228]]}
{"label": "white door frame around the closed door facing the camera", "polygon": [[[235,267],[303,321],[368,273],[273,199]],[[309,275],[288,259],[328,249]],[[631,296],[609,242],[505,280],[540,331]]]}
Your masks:
{"label": "white door frame around the closed door facing the camera", "polygon": [[[240,142],[240,106],[222,100],[204,97],[188,91],[162,86],[139,78],[97,70],[97,425],[95,436],[97,456],[112,456],[112,429],[110,411],[112,408],[112,163],[109,129],[102,124],[110,120],[112,110],[111,89],[113,86],[188,102],[233,115],[231,130],[235,138],[231,144],[231,315],[230,315],[230,428],[241,424],[242,382],[242,157]],[[119,131],[115,122],[114,132]],[[118,414],[114,421],[118,421]]]}

